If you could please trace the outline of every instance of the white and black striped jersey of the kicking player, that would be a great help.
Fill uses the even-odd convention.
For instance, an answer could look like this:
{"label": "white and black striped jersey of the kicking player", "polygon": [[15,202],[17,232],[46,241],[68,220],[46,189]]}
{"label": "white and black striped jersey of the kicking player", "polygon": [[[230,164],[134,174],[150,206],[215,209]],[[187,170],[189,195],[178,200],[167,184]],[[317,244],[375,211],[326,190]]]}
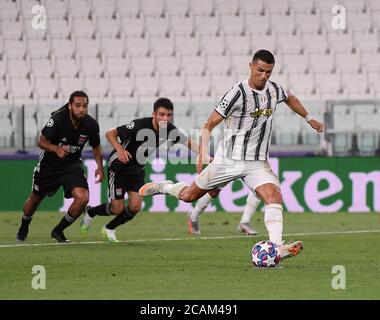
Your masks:
{"label": "white and black striped jersey of the kicking player", "polygon": [[252,89],[248,80],[234,84],[215,107],[225,118],[219,145],[223,156],[232,160],[266,160],[276,106],[287,99],[283,86],[272,81],[260,91]]}

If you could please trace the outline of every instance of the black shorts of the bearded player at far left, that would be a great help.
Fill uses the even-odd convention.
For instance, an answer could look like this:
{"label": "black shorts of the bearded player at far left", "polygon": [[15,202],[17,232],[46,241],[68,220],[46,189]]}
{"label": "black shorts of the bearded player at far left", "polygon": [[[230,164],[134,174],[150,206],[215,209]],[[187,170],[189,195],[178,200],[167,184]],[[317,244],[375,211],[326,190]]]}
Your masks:
{"label": "black shorts of the bearded player at far left", "polygon": [[59,187],[63,186],[65,198],[72,198],[71,192],[74,188],[84,188],[88,190],[87,178],[81,166],[71,168],[67,171],[40,171],[35,170],[33,174],[32,191],[40,196],[54,195]]}

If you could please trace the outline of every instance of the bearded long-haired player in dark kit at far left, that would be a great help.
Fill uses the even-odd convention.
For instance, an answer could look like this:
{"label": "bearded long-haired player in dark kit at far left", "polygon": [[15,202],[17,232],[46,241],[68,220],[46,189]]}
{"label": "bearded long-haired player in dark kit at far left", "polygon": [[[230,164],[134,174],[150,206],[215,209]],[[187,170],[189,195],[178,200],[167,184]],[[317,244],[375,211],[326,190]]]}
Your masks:
{"label": "bearded long-haired player in dark kit at far left", "polygon": [[82,150],[87,141],[97,164],[97,182],[103,180],[99,124],[87,114],[88,102],[85,92],[73,92],[69,102],[53,112],[42,129],[38,139],[42,151],[34,168],[32,192],[24,204],[16,241],[26,240],[33,214],[45,196],[51,197],[63,186],[65,198],[74,198],[74,202],[51,236],[58,242],[68,242],[63,230],[82,214],[89,199],[87,179],[81,166]]}

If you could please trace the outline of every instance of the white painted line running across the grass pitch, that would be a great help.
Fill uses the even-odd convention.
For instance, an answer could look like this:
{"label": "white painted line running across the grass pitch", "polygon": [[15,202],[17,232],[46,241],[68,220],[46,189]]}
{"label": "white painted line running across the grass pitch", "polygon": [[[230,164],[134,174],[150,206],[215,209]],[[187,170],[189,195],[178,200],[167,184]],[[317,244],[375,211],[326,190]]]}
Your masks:
{"label": "white painted line running across the grass pitch", "polygon": [[[377,233],[380,229],[375,230],[350,230],[350,231],[321,231],[321,232],[302,232],[302,233],[287,233],[284,237],[292,236],[318,236],[329,234],[355,234],[355,233]],[[255,236],[257,238],[259,236]],[[167,238],[167,239],[135,239],[135,240],[120,240],[119,243],[136,243],[136,242],[157,242],[157,241],[186,241],[186,240],[218,240],[218,239],[237,239],[248,238],[248,236],[225,236],[225,237],[189,237],[189,238]],[[56,242],[39,242],[39,243],[16,243],[16,244],[0,244],[0,248],[15,248],[15,247],[45,247],[45,246],[60,246],[60,245],[77,245],[77,244],[107,244],[106,241],[77,241],[68,243]]]}

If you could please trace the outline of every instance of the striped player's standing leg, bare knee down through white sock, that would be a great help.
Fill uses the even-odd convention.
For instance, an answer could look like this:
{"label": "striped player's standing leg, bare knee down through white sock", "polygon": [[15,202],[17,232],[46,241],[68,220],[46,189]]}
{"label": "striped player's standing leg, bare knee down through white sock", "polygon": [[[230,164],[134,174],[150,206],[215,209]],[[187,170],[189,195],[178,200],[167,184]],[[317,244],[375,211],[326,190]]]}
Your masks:
{"label": "striped player's standing leg, bare knee down through white sock", "polygon": [[256,188],[256,194],[265,202],[264,221],[269,239],[277,245],[282,244],[282,196],[278,186],[266,183]]}

